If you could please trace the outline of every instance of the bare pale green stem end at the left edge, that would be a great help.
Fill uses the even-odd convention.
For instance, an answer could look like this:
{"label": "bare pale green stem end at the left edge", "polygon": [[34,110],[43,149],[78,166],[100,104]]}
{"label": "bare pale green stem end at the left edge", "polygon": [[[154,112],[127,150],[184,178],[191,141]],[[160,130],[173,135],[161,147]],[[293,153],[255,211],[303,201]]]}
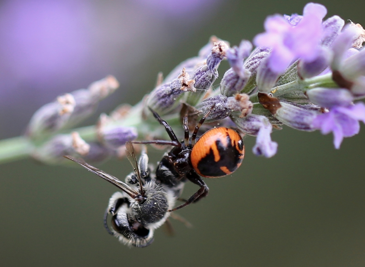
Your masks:
{"label": "bare pale green stem end at the left edge", "polygon": [[27,158],[33,148],[29,139],[23,136],[0,140],[0,163]]}

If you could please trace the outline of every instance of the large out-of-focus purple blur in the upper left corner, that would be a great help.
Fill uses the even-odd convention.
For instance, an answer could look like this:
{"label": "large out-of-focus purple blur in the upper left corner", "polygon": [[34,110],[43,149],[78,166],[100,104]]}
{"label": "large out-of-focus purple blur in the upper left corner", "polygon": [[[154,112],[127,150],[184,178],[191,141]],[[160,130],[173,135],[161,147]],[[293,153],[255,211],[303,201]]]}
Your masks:
{"label": "large out-of-focus purple blur in the upper left corner", "polygon": [[1,71],[44,78],[82,67],[90,43],[88,8],[84,1],[7,1],[0,11]]}

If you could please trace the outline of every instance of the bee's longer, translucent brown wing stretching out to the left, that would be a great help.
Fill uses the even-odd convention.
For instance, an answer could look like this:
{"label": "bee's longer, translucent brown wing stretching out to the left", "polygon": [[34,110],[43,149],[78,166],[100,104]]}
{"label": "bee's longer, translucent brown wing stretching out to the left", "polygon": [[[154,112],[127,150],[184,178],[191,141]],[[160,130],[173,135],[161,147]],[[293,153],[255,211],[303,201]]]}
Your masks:
{"label": "bee's longer, translucent brown wing stretching out to the left", "polygon": [[132,189],[129,185],[127,185],[125,182],[120,181],[118,178],[104,172],[103,170],[100,170],[90,164],[87,164],[84,160],[79,159],[79,158],[74,158],[71,156],[64,156],[65,158],[68,158],[69,160],[72,160],[78,164],[80,164],[82,167],[84,167],[85,169],[89,170],[90,172],[95,173],[96,175],[100,176],[101,178],[103,178],[104,180],[107,180],[108,182],[110,182],[111,184],[115,185],[116,187],[118,187],[119,189],[123,190],[124,192],[126,192],[129,196],[131,196],[132,198],[134,198],[135,196],[139,195],[139,193],[137,191],[135,191],[134,189]]}

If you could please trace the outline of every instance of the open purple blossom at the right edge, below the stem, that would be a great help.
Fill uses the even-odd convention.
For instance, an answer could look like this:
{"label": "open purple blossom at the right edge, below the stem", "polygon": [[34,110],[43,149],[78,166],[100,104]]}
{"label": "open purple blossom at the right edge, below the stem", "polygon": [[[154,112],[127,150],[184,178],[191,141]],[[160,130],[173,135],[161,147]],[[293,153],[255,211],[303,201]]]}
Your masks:
{"label": "open purple blossom at the right edge, below the stem", "polygon": [[344,137],[359,133],[359,121],[365,123],[365,105],[362,102],[348,107],[334,107],[327,113],[319,114],[312,125],[322,134],[333,132],[333,143],[339,149]]}

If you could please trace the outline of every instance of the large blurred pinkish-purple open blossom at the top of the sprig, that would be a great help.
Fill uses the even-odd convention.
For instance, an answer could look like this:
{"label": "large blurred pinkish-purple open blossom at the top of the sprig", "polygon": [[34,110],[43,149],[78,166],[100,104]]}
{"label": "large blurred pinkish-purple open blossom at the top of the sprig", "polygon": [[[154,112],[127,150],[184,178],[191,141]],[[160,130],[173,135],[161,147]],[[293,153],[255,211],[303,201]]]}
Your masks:
{"label": "large blurred pinkish-purple open blossom at the top of the sprig", "polygon": [[326,13],[323,5],[308,3],[295,27],[282,15],[269,16],[265,20],[266,32],[256,35],[253,42],[256,46],[272,48],[269,58],[272,71],[283,72],[297,58],[306,61],[315,59],[323,34],[322,19]]}

